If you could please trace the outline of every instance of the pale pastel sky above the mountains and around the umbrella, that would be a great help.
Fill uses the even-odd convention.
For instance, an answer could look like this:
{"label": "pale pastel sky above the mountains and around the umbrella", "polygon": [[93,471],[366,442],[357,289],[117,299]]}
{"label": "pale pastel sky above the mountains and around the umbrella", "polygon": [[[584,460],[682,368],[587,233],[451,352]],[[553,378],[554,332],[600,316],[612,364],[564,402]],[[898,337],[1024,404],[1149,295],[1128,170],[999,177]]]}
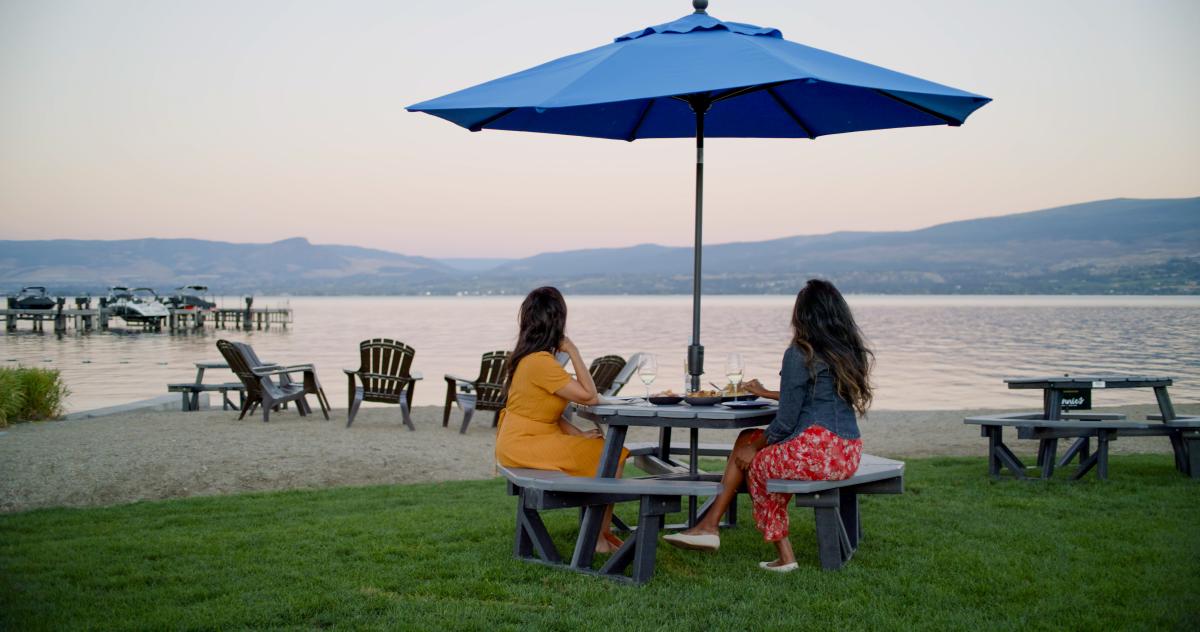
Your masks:
{"label": "pale pastel sky above the mountains and around the umbrella", "polygon": [[[688,0],[0,0],[0,239],[306,236],[431,257],[691,240],[692,145],[404,106]],[[1195,0],[713,0],[995,102],[960,128],[709,140],[706,241],[1200,194]]]}

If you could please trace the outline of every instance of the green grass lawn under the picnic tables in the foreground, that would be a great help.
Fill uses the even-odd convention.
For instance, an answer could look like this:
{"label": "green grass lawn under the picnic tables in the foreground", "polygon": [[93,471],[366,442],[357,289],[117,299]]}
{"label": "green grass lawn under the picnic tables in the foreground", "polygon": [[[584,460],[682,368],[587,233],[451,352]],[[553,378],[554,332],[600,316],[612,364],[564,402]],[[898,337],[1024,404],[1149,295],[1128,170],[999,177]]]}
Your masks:
{"label": "green grass lawn under the picnic tables in the foreground", "polygon": [[[1200,626],[1200,484],[1169,457],[1114,457],[1108,482],[985,471],[910,461],[839,572],[794,507],[800,570],[758,570],[743,500],[720,553],[664,544],[641,588],[515,560],[500,480],[0,516],[0,630]],[[547,516],[568,550],[576,512]]]}

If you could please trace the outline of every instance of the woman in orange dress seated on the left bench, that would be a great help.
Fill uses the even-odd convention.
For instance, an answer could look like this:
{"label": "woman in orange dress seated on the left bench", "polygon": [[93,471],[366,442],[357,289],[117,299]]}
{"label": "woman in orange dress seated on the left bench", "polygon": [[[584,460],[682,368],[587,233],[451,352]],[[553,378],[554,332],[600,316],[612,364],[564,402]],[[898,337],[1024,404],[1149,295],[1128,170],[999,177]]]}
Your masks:
{"label": "woman in orange dress seated on the left bench", "polygon": [[[592,373],[575,343],[566,337],[566,301],[554,288],[538,288],[526,296],[518,315],[517,344],[505,366],[508,405],[500,411],[496,437],[496,461],[505,468],[534,468],[565,471],[572,476],[595,476],[604,450],[599,431],[581,431],[563,417],[566,404],[599,402]],[[575,367],[571,378],[558,360],[565,351]],[[624,469],[623,450],[617,476]],[[612,534],[612,506],[605,512],[598,553],[620,547]]]}

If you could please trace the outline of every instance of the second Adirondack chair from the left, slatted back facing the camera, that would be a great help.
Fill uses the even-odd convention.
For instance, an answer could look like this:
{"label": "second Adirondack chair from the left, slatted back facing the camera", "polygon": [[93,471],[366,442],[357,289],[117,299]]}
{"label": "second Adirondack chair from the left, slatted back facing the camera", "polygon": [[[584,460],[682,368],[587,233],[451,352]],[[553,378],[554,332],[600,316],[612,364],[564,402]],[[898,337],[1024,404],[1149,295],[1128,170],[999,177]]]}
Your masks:
{"label": "second Adirondack chair from the left, slatted back facing the camera", "polygon": [[[419,372],[410,371],[416,350],[389,338],[371,338],[359,343],[358,369],[343,369],[349,380],[349,414],[346,427],[354,423],[362,402],[380,402],[400,404],[400,415],[409,431],[415,431],[413,417],[413,391],[416,381],[422,378]],[[355,385],[358,378],[361,386]]]}

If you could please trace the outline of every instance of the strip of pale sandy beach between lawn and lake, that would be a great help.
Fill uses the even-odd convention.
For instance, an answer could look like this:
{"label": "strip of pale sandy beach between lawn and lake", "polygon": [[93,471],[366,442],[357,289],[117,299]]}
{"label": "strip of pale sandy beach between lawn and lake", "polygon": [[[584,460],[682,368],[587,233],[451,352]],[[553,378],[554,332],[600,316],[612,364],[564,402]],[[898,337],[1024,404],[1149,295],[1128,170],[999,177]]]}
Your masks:
{"label": "strip of pale sandy beach between lawn and lake", "polygon": [[[1121,411],[1144,419],[1156,409],[1122,407]],[[878,410],[862,423],[863,439],[869,452],[894,458],[982,457],[984,440],[962,417],[984,413],[994,411]],[[1200,405],[1178,407],[1178,413],[1198,414]],[[398,416],[395,408],[367,408],[350,428],[343,409],[335,409],[330,421],[289,410],[263,423],[259,419],[238,421],[235,413],[203,410],[22,423],[0,431],[0,512],[494,475],[488,416],[476,417],[466,435],[457,433],[457,410],[450,427],[443,428],[440,408],[418,407],[413,413],[416,432],[404,429]],[[656,437],[653,429],[631,428],[629,440]],[[731,432],[701,434],[706,443],[732,439]],[[1033,441],[1013,444],[1026,455],[1036,446]],[[1164,438],[1112,444],[1115,455],[1169,451]]]}

